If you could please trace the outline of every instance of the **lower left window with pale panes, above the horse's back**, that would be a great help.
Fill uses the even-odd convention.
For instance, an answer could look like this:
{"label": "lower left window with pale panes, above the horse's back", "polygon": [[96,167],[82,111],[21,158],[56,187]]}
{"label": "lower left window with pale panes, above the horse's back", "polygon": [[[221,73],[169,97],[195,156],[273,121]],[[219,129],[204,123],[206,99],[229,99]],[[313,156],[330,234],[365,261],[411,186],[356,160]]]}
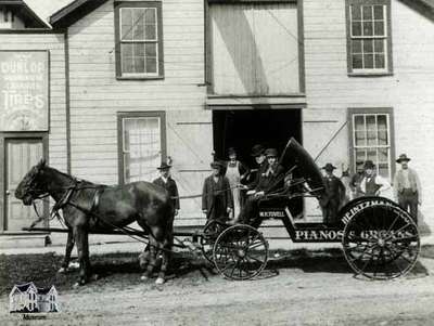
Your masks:
{"label": "lower left window with pale panes, above the horse's back", "polygon": [[123,114],[119,123],[120,182],[152,182],[165,157],[164,113]]}

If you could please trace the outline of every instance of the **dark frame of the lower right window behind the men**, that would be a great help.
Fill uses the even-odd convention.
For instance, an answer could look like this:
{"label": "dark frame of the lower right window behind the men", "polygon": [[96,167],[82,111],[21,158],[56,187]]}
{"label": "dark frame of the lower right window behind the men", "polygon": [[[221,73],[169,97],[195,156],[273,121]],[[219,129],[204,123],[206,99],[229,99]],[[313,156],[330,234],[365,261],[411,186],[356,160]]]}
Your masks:
{"label": "dark frame of the lower right window behind the men", "polygon": [[[390,174],[387,178],[390,182],[393,182],[393,178],[395,175],[395,122],[394,122],[394,114],[392,107],[349,107],[347,110],[347,123],[348,123],[348,148],[349,148],[349,164],[350,171],[356,173],[356,159],[355,159],[355,126],[354,126],[354,117],[356,115],[387,115],[388,122],[388,148],[390,148]],[[369,147],[369,146],[366,146]],[[372,146],[372,148],[379,148],[380,146]],[[376,162],[374,162],[376,166]],[[378,172],[378,167],[376,167]]]}

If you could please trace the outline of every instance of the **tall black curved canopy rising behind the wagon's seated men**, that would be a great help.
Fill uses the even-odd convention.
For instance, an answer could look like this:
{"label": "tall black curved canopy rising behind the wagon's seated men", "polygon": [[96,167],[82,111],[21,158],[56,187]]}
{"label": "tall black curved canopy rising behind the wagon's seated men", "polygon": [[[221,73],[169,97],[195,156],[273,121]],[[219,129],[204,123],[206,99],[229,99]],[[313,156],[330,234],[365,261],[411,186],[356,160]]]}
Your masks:
{"label": "tall black curved canopy rising behind the wagon's seated men", "polygon": [[324,194],[322,174],[314,158],[293,138],[290,139],[280,157],[280,164],[286,171],[294,169],[294,173],[306,179],[312,194],[321,196]]}

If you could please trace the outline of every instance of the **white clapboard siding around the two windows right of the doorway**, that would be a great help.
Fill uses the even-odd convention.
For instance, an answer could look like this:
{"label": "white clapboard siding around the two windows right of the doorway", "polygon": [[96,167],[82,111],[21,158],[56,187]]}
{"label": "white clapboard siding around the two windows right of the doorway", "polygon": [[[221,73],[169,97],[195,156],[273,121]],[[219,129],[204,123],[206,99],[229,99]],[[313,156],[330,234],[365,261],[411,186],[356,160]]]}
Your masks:
{"label": "white clapboard siding around the two windows right of the doorway", "polygon": [[[345,122],[348,107],[392,107],[396,152],[412,157],[425,194],[422,216],[434,227],[427,213],[434,209],[434,198],[426,196],[434,191],[434,152],[426,147],[434,141],[434,22],[392,0],[394,68],[384,77],[347,75],[345,0],[304,0],[304,32],[307,109],[303,116],[310,120],[304,123],[304,145],[309,153],[319,153],[319,134],[329,140]],[[337,122],[321,122],[324,116]],[[344,128],[318,164],[332,161],[341,168],[348,164],[348,146]]]}

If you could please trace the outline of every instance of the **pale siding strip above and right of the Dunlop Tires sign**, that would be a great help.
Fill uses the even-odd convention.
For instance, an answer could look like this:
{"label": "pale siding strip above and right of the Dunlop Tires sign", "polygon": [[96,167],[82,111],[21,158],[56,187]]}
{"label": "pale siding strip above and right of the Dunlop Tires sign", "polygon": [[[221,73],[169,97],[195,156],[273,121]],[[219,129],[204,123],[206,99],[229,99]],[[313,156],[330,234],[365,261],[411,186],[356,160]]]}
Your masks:
{"label": "pale siding strip above and right of the Dunlop Tires sign", "polygon": [[0,50],[50,52],[50,165],[66,170],[65,52],[61,34],[0,34]]}

